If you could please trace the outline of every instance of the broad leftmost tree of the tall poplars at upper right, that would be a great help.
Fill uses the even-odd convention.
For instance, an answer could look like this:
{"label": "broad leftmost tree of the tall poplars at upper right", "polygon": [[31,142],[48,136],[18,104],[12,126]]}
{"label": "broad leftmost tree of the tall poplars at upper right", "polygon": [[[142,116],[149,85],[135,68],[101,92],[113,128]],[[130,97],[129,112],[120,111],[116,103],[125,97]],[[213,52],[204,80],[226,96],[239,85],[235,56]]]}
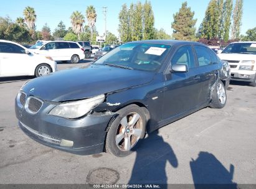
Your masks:
{"label": "broad leftmost tree of the tall poplars at upper right", "polygon": [[211,0],[202,21],[201,34],[203,38],[212,39],[219,37],[219,9],[216,0]]}

